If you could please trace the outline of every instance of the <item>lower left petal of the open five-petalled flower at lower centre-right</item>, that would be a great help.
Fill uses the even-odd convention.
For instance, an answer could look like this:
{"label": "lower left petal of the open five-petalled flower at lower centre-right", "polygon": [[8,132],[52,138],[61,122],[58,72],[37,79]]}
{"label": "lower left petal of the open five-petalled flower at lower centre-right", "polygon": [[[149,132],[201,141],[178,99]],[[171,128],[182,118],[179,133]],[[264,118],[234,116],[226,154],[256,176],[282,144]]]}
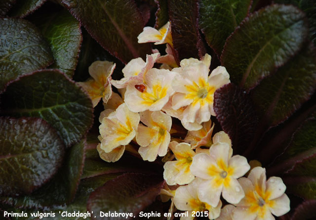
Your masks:
{"label": "lower left petal of the open five-petalled flower at lower centre-right", "polygon": [[207,203],[213,207],[217,207],[220,201],[222,190],[223,185],[214,187],[212,180],[202,180],[200,181],[200,184],[197,188],[197,194],[201,202]]}

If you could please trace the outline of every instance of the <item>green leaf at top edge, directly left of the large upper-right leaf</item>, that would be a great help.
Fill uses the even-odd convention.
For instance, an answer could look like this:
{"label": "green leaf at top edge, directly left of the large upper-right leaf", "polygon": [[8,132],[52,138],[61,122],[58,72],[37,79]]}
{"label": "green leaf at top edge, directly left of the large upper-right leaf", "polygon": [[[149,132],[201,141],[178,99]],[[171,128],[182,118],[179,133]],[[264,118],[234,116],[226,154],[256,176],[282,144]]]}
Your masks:
{"label": "green leaf at top edge, directly left of the large upper-right leaf", "polygon": [[251,0],[201,0],[199,27],[207,43],[221,55],[224,44],[248,15]]}

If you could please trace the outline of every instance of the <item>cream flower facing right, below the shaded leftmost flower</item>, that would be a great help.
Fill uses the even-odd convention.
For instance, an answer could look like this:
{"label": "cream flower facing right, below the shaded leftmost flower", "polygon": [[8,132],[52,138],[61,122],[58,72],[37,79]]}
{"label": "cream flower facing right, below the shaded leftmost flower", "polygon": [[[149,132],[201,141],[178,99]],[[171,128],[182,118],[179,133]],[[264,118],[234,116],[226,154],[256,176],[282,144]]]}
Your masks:
{"label": "cream flower facing right, below the shaded leftmost flower", "polygon": [[110,153],[121,145],[127,145],[136,135],[139,120],[139,114],[131,112],[125,103],[118,106],[115,112],[102,119],[100,149]]}

